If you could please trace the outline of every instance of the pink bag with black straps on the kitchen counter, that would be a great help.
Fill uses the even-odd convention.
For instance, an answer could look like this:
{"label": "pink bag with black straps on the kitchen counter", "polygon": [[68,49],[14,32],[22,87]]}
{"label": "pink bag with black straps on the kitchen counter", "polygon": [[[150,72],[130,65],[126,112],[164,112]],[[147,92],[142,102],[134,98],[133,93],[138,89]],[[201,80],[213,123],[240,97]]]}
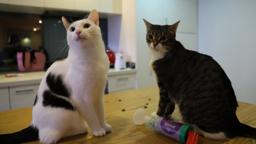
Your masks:
{"label": "pink bag with black straps on the kitchen counter", "polygon": [[18,68],[21,72],[43,70],[45,67],[45,59],[44,53],[36,51],[17,53]]}

